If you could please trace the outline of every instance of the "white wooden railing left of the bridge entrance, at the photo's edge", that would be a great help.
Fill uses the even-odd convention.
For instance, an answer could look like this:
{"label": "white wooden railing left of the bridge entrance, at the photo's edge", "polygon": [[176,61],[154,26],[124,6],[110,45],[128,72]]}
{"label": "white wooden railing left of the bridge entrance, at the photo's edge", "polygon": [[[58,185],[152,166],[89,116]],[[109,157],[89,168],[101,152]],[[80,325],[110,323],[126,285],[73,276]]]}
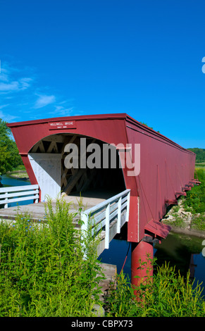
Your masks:
{"label": "white wooden railing left of the bridge entrance, at the photo's edge", "polygon": [[25,185],[0,188],[0,205],[8,208],[11,202],[35,200],[39,201],[39,185]]}

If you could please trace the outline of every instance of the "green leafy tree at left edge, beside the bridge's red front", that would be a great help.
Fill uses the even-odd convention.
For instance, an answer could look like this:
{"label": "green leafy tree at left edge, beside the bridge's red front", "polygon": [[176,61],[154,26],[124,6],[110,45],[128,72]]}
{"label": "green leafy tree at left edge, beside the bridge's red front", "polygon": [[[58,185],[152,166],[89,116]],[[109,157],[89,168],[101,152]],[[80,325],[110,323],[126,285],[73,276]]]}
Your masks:
{"label": "green leafy tree at left edge, beside the bridge's red front", "polygon": [[0,118],[0,175],[13,170],[23,161],[18,154],[18,148],[11,138],[11,130],[6,122]]}

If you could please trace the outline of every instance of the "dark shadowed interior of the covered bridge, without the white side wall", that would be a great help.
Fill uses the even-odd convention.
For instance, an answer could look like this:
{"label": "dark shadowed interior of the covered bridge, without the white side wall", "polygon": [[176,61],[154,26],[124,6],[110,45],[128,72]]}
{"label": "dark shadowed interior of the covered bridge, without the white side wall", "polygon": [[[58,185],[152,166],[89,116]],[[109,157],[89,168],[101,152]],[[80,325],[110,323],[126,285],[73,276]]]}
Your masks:
{"label": "dark shadowed interior of the covered bridge, without the white side wall", "polygon": [[[84,138],[84,144],[86,142],[84,149],[81,138]],[[68,144],[75,144],[75,153],[72,145],[68,148]],[[67,195],[77,195],[81,192],[82,196],[92,194],[96,197],[106,196],[107,199],[107,196],[113,196],[126,189],[118,151],[115,147],[92,137],[50,135],[35,144],[30,153],[61,154],[61,192]],[[86,159],[86,168],[80,168],[80,158]],[[69,165],[68,168],[68,163],[75,167]]]}

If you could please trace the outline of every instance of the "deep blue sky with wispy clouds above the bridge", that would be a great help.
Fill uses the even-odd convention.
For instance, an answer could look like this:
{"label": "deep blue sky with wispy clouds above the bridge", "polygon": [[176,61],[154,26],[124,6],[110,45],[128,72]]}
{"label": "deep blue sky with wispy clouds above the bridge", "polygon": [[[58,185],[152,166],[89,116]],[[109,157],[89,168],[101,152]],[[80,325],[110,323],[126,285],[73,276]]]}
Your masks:
{"label": "deep blue sky with wispy clouds above the bridge", "polygon": [[204,0],[0,0],[0,118],[128,113],[205,148],[204,14]]}

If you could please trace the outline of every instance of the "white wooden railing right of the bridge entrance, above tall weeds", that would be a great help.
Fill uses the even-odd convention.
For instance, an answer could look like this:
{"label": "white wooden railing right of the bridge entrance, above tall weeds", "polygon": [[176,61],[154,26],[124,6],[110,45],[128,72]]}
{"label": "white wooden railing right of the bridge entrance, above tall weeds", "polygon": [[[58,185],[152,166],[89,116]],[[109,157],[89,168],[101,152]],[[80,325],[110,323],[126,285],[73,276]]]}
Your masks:
{"label": "white wooden railing right of the bridge entrance, above tall weeds", "polygon": [[[125,217],[121,217],[121,213],[125,211]],[[108,249],[110,242],[110,224],[117,218],[117,230],[116,233],[120,233],[120,228],[128,222],[130,211],[130,189],[112,196],[101,204],[82,211],[82,230],[87,231],[89,218],[94,218],[94,227],[97,226],[100,229],[105,228],[105,248]],[[94,232],[94,230],[93,230]]]}

